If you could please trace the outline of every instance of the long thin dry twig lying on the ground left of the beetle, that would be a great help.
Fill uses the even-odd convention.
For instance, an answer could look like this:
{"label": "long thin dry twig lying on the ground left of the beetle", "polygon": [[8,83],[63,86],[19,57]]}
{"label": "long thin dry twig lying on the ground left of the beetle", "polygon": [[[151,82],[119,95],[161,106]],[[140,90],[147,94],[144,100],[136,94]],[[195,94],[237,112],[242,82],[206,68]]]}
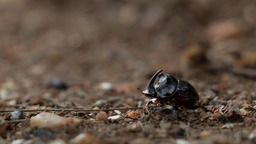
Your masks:
{"label": "long thin dry twig lying on the ground left of the beetle", "polygon": [[[20,112],[50,112],[50,111],[55,111],[55,112],[93,112],[93,111],[109,111],[109,110],[129,110],[129,109],[143,109],[144,107],[129,107],[129,108],[112,108],[112,109],[32,109],[32,110],[27,110],[27,109],[22,109],[22,110],[17,110]],[[0,110],[0,112],[14,112],[16,110]]]}

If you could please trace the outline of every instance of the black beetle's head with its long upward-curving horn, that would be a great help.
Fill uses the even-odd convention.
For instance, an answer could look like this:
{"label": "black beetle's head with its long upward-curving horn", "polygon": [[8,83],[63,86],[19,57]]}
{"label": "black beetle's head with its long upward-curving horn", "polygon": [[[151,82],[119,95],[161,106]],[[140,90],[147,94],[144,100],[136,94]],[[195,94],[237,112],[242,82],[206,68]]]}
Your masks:
{"label": "black beetle's head with its long upward-curving horn", "polygon": [[163,70],[157,71],[154,76],[150,79],[150,82],[148,83],[148,88],[144,91],[142,91],[142,94],[144,94],[146,97],[154,98],[157,96],[156,89],[154,89],[154,81],[156,80],[156,77],[159,73],[161,73]]}

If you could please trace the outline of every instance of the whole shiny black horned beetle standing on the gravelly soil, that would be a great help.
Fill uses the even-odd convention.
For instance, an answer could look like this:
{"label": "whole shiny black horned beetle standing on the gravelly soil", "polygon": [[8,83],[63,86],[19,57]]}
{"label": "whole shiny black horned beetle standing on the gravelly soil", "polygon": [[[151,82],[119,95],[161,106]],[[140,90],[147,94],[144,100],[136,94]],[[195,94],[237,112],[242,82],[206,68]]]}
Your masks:
{"label": "whole shiny black horned beetle standing on the gravelly soil", "polygon": [[[163,70],[159,70],[154,74],[148,83],[148,88],[141,91],[148,98],[153,98],[146,106],[153,105],[153,109],[164,106],[164,104],[171,104],[174,106],[174,112],[177,114],[177,107],[183,107],[187,109],[197,109],[202,107],[205,111],[208,111],[206,107],[197,104],[199,95],[194,86],[184,80],[177,80],[175,77],[164,74]],[[154,85],[156,77],[159,75],[159,80]]]}

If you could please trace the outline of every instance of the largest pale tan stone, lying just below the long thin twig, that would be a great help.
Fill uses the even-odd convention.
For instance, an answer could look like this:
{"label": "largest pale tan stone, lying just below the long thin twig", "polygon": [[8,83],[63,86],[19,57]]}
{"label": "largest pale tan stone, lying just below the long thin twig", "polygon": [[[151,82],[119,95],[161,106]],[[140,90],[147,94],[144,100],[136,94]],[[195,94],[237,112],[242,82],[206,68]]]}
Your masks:
{"label": "largest pale tan stone, lying just below the long thin twig", "polygon": [[38,128],[61,128],[69,124],[81,124],[82,119],[79,118],[65,118],[49,112],[41,112],[36,116],[32,116],[30,124],[32,127]]}

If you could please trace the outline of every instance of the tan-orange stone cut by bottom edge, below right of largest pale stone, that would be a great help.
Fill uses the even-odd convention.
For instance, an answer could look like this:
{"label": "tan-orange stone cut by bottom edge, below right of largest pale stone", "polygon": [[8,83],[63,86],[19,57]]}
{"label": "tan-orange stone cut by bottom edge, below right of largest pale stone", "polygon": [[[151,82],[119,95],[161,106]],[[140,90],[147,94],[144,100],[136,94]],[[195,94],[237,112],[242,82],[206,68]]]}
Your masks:
{"label": "tan-orange stone cut by bottom edge, below right of largest pale stone", "polygon": [[76,136],[74,139],[70,140],[73,144],[100,144],[100,141],[93,135],[89,133],[82,133]]}

